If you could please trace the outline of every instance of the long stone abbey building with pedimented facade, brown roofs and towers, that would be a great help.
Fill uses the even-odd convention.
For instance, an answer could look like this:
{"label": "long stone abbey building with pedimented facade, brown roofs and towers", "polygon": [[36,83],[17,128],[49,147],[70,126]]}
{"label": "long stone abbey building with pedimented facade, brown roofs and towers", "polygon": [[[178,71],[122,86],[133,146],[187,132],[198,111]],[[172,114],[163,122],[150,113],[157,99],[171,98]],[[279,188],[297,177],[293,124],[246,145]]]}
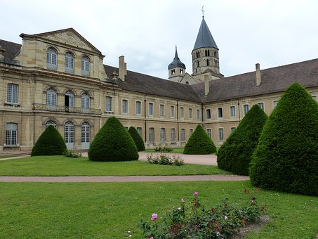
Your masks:
{"label": "long stone abbey building with pedimented facade, brown roofs and towers", "polygon": [[183,146],[197,124],[217,146],[252,105],[270,114],[299,82],[318,96],[318,59],[232,77],[220,73],[218,46],[202,18],[192,73],[178,58],[168,80],[104,65],[104,55],[74,29],[0,39],[0,150],[30,150],[52,124],[67,148],[86,150],[108,117],[135,127],[147,147]]}

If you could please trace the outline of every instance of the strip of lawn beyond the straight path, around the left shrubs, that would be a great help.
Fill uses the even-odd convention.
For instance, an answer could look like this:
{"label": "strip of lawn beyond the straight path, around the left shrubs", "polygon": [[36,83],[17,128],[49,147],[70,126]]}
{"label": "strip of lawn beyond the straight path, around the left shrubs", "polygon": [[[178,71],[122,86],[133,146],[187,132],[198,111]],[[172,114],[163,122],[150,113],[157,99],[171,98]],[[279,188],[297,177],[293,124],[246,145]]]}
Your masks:
{"label": "strip of lawn beyond the straight path, around the left shrubs", "polygon": [[140,161],[93,162],[87,157],[34,156],[0,161],[0,176],[133,176],[230,174],[216,166],[168,166]]}

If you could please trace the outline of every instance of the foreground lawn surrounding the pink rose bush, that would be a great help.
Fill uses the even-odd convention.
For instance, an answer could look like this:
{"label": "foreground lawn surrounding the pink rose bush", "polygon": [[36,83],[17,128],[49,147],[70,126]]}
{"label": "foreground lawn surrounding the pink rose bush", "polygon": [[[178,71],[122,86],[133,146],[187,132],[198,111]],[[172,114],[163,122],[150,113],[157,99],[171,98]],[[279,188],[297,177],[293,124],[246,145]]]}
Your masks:
{"label": "foreground lawn surrounding the pink rose bush", "polygon": [[[140,219],[187,202],[192,193],[206,207],[229,198],[244,205],[249,181],[149,183],[0,183],[0,238],[140,238]],[[270,221],[248,238],[314,238],[318,198],[260,191]]]}

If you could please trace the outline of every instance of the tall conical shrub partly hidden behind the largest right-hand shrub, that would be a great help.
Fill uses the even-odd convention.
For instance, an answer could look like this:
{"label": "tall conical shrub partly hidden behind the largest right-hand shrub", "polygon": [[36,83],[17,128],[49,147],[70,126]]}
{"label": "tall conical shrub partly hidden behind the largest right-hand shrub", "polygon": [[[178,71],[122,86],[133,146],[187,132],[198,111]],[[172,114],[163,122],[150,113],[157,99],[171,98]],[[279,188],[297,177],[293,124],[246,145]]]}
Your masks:
{"label": "tall conical shrub partly hidden behind the largest right-hand shrub", "polygon": [[249,175],[249,164],[267,115],[258,105],[253,105],[237,129],[218,149],[218,167],[234,174]]}

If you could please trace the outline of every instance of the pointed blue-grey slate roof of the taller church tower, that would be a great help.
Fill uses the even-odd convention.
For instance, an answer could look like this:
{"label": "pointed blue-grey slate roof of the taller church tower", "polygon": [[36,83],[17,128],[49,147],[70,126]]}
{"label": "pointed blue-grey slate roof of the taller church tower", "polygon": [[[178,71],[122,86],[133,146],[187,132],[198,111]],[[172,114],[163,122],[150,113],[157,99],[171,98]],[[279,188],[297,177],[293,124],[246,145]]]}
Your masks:
{"label": "pointed blue-grey slate roof of the taller church tower", "polygon": [[216,46],[216,41],[214,41],[210,30],[208,30],[208,25],[206,25],[204,18],[202,18],[197,41],[195,41],[193,50],[199,49],[201,47],[214,47],[215,49],[218,49],[218,46]]}

